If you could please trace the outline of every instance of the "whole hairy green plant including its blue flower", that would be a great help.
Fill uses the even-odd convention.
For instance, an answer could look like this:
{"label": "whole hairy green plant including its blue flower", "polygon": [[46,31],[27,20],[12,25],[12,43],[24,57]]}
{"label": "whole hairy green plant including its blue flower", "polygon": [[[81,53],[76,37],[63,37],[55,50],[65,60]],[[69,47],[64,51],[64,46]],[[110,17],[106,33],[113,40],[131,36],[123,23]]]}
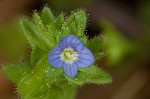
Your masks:
{"label": "whole hairy green plant including its blue flower", "polygon": [[21,99],[73,99],[76,88],[87,83],[107,84],[111,76],[94,62],[104,53],[102,39],[84,35],[84,10],[65,17],[54,16],[48,7],[22,18],[23,33],[32,52],[29,61],[7,64],[3,71],[16,84]]}

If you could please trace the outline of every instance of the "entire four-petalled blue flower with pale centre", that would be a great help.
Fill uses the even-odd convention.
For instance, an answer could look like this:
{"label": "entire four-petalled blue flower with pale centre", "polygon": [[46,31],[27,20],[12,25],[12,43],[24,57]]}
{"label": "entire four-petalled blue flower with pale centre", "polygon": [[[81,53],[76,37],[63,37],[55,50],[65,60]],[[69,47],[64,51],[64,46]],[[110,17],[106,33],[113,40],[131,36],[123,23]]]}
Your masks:
{"label": "entire four-petalled blue flower with pale centre", "polygon": [[84,68],[94,63],[94,56],[76,36],[68,35],[50,51],[48,62],[55,68],[63,68],[69,77],[74,78],[78,68]]}

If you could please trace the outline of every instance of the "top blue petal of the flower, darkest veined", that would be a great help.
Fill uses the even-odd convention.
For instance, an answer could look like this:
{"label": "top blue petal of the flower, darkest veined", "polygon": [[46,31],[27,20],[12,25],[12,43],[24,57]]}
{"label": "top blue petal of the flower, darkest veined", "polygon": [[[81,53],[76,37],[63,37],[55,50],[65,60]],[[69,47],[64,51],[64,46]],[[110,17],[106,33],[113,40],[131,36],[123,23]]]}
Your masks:
{"label": "top blue petal of the flower, darkest veined", "polygon": [[62,48],[71,47],[76,51],[80,51],[83,49],[82,41],[74,35],[69,35],[62,38],[58,46],[61,46]]}

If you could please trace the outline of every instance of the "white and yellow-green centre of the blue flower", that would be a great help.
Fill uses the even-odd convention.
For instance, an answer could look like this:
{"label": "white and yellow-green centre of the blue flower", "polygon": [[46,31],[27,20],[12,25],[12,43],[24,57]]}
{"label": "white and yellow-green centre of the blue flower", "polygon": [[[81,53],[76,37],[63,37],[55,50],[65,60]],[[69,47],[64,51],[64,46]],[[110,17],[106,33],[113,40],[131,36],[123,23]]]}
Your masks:
{"label": "white and yellow-green centre of the blue flower", "polygon": [[78,54],[72,48],[65,48],[60,54],[60,59],[67,64],[72,64],[78,59]]}

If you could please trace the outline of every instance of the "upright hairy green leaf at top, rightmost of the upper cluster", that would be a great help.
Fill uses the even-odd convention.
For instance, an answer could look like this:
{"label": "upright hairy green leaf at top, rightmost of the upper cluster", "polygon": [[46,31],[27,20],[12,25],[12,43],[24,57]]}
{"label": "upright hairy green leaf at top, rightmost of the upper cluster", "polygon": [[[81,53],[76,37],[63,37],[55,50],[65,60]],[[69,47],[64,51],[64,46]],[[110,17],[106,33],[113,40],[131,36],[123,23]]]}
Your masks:
{"label": "upright hairy green leaf at top, rightmost of the upper cluster", "polygon": [[65,35],[74,34],[77,37],[81,37],[84,34],[86,20],[85,11],[78,10],[73,12],[63,24],[62,33]]}

